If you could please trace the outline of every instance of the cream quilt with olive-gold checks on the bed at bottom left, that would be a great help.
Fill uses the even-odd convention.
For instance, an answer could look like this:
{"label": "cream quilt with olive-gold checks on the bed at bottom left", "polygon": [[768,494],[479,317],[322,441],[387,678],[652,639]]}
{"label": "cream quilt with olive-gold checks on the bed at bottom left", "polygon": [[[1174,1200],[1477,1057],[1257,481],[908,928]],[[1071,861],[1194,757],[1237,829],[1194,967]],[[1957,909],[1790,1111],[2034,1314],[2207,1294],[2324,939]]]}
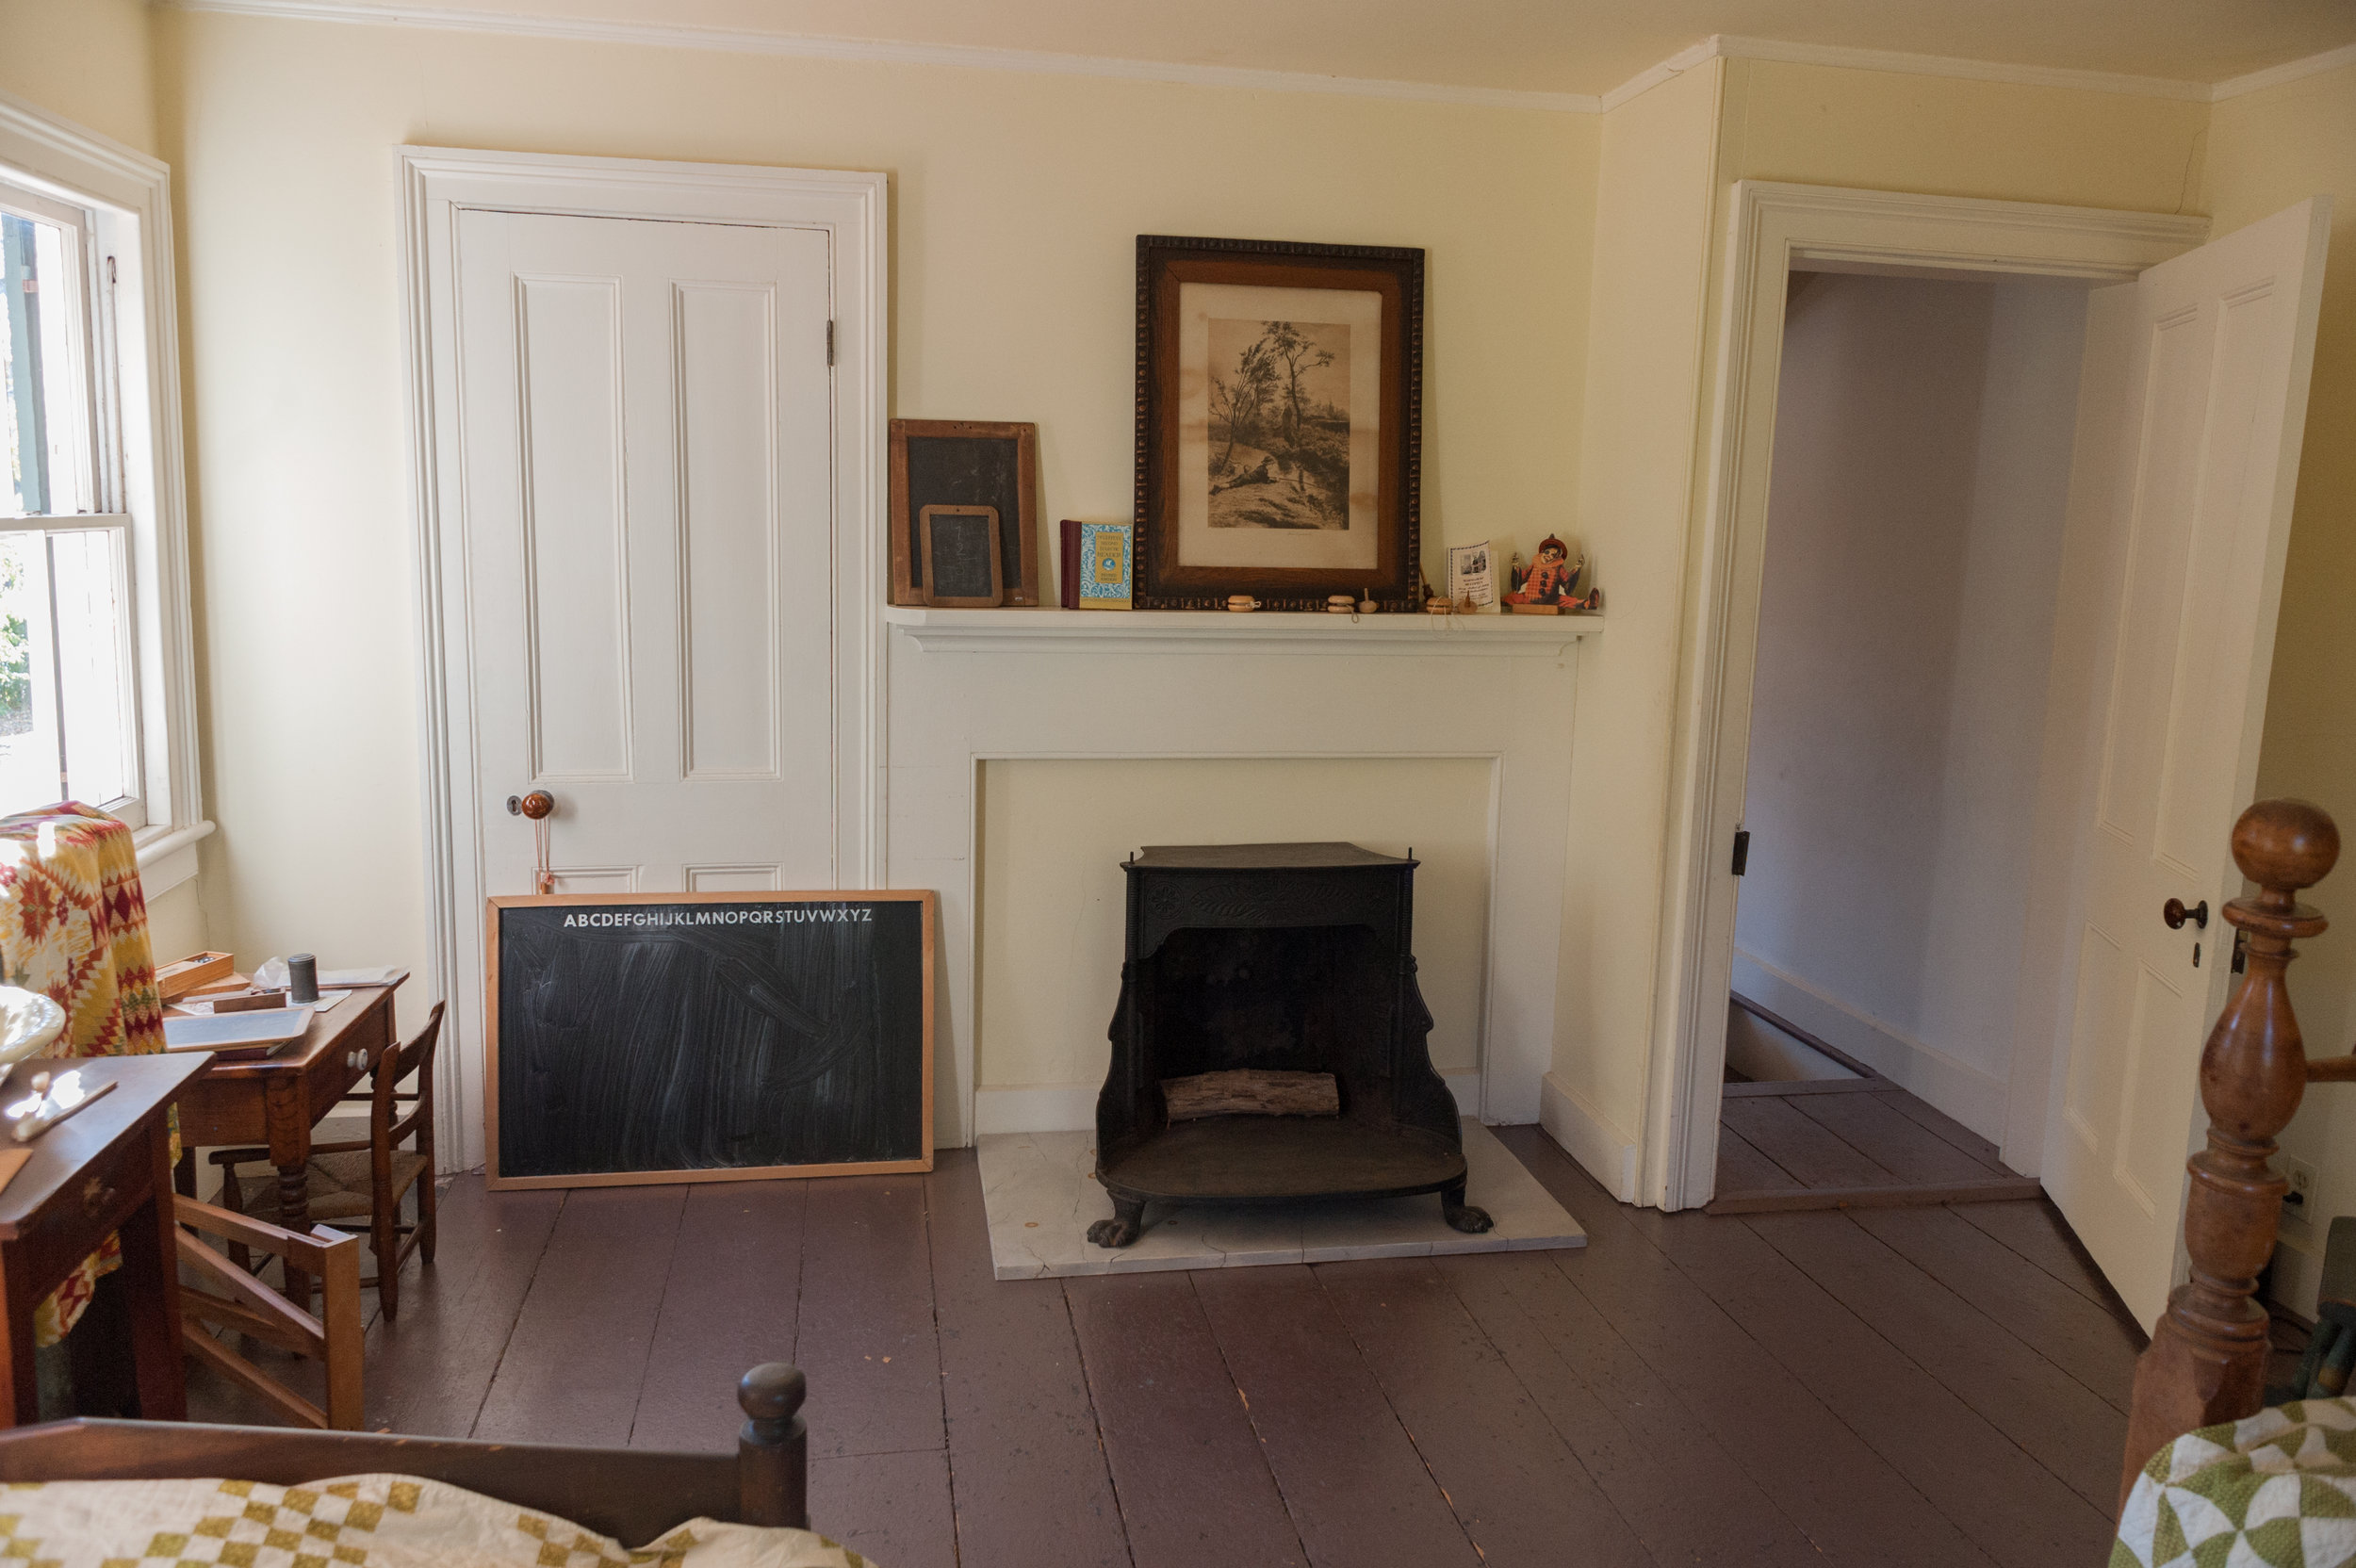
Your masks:
{"label": "cream quilt with olive-gold checks on the bed at bottom left", "polygon": [[629,1549],[563,1519],[417,1476],[21,1481],[0,1488],[12,1568],[869,1568],[810,1530],[690,1519]]}

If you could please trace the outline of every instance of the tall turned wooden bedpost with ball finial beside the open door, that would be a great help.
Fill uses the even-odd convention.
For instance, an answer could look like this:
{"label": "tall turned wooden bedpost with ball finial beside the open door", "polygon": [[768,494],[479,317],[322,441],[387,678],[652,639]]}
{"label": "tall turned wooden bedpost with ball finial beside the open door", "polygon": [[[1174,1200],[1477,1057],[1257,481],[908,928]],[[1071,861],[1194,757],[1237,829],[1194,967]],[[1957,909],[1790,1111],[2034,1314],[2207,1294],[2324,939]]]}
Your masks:
{"label": "tall turned wooden bedpost with ball finial beside the open door", "polygon": [[2266,1314],[2252,1297],[2288,1191],[2266,1161],[2309,1076],[2283,970],[2292,939],[2325,928],[2297,895],[2323,881],[2335,859],[2340,829],[2304,800],[2259,800],[2233,824],[2233,862],[2262,890],[2224,906],[2224,918],[2248,932],[2250,972],[2201,1052],[2210,1135],[2208,1149],[2186,1165],[2193,1175],[2184,1205],[2191,1278],[2168,1295],[2151,1349],[2135,1363],[2120,1504],[2151,1455],[2172,1439],[2257,1415],[2264,1398]]}

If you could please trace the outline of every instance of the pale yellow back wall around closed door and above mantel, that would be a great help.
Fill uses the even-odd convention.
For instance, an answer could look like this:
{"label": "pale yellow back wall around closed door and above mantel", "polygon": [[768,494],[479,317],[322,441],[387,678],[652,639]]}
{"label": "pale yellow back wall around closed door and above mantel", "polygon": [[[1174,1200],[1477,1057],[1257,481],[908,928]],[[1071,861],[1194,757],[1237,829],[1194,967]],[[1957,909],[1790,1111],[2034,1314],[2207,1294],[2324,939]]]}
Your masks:
{"label": "pale yellow back wall around closed door and above mantel", "polygon": [[1421,245],[1430,558],[1576,480],[1590,118],[170,9],[155,38],[238,954],[426,956],[401,144],[888,172],[893,414],[1039,421],[1046,518],[1129,516],[1138,233]]}

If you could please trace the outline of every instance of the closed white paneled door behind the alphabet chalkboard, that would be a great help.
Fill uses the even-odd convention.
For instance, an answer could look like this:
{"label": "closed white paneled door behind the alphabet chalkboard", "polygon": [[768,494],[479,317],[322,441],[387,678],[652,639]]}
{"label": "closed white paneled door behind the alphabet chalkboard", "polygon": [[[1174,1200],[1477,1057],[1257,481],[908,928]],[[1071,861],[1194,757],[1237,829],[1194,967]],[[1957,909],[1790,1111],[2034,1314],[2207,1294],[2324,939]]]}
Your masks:
{"label": "closed white paneled door behind the alphabet chalkboard", "polygon": [[829,235],[457,214],[483,892],[834,888]]}

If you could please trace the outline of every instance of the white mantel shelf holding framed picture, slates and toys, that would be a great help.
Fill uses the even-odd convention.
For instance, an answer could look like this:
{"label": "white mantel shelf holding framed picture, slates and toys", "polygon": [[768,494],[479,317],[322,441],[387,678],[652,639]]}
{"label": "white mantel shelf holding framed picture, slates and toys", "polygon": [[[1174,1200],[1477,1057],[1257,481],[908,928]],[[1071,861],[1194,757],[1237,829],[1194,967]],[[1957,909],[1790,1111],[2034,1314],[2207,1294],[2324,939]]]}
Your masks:
{"label": "white mantel shelf holding framed picture, slates and toys", "polygon": [[1600,614],[1319,614],[1253,610],[926,610],[884,622],[926,652],[1244,652],[1548,659]]}

